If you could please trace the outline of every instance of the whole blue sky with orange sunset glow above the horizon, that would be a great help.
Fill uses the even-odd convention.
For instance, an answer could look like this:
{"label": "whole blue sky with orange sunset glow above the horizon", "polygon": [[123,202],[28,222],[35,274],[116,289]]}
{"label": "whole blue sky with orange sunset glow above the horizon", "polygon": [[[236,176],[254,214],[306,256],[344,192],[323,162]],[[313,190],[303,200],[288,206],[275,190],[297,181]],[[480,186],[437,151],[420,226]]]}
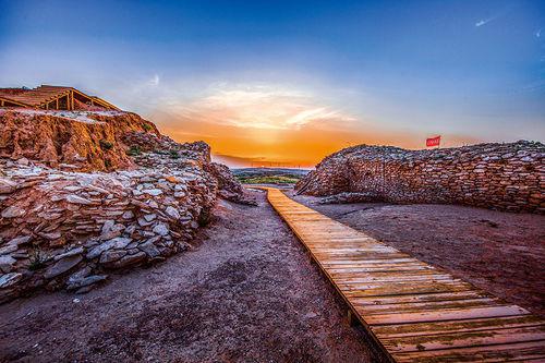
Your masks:
{"label": "whole blue sky with orange sunset glow above the horizon", "polygon": [[545,141],[545,1],[0,0],[0,86],[68,85],[230,166]]}

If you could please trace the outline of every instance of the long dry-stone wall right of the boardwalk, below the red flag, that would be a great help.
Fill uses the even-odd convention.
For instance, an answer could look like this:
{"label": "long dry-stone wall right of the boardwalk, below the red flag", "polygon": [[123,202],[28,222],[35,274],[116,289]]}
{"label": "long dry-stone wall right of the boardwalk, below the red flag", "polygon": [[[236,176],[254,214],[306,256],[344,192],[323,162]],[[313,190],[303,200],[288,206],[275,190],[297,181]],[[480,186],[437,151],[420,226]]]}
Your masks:
{"label": "long dry-stone wall right of the boardwalk, below the red flag", "polygon": [[392,203],[543,214],[544,158],[545,145],[523,141],[433,150],[360,145],[326,157],[295,189],[317,196],[355,192]]}

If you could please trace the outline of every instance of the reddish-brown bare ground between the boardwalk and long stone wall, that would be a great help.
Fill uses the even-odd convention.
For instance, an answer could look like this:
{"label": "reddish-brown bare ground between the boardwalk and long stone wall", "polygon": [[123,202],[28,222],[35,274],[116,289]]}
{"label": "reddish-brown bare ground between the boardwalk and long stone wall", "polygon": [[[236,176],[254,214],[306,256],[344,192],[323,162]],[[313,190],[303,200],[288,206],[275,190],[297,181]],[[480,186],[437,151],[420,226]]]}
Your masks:
{"label": "reddish-brown bare ground between the boardwalk and long stone wall", "polygon": [[545,216],[455,205],[320,205],[315,197],[294,198],[545,317]]}

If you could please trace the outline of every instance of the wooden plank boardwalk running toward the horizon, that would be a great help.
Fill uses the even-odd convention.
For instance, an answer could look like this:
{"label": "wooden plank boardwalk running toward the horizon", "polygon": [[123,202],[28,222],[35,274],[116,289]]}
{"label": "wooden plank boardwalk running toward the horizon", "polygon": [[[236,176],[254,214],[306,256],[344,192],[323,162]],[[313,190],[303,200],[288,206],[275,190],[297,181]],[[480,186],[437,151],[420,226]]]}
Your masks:
{"label": "wooden plank boardwalk running toward the horizon", "polygon": [[545,320],[307,208],[277,189],[286,220],[393,362],[545,362]]}

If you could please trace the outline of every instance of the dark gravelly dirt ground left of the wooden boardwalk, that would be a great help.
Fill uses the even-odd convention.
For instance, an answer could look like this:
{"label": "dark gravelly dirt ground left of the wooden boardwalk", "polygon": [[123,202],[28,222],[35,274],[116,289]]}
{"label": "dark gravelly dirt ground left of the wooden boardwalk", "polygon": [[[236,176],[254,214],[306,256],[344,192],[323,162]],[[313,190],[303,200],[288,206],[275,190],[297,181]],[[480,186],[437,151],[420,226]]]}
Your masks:
{"label": "dark gravelly dirt ground left of the wooden boardwalk", "polygon": [[160,265],[1,305],[0,361],[370,362],[334,289],[258,199],[221,203],[199,245]]}

